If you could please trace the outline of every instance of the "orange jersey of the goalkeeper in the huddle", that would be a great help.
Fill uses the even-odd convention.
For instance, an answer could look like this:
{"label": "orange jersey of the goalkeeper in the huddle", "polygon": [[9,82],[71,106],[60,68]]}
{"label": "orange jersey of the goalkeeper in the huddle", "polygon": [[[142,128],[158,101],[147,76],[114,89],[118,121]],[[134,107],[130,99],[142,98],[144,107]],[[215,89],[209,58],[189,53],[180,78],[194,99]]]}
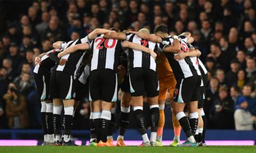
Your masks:
{"label": "orange jersey of the goalkeeper in the huddle", "polygon": [[160,52],[156,57],[156,69],[159,79],[173,75],[172,68],[163,52]]}

